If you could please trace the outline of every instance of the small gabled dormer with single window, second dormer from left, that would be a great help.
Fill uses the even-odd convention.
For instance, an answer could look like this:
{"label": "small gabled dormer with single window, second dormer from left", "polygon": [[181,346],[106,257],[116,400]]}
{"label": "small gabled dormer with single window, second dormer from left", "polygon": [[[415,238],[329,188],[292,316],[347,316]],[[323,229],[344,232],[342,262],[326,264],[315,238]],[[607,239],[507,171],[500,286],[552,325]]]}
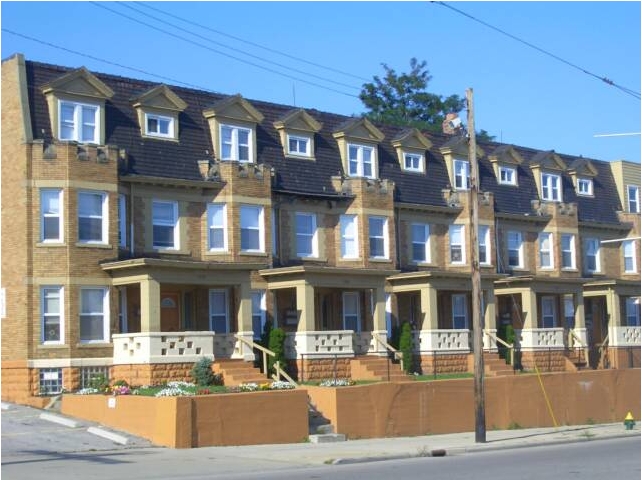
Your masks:
{"label": "small gabled dormer with single window, second dormer from left", "polygon": [[158,85],[133,99],[143,137],[178,140],[179,114],[185,103],[166,85]]}

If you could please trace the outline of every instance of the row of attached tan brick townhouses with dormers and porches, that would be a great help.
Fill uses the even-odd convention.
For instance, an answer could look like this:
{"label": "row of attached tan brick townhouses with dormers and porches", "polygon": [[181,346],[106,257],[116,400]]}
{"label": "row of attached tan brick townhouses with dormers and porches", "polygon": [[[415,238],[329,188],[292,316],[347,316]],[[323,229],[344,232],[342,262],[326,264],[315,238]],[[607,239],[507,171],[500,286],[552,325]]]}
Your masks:
{"label": "row of attached tan brick townhouses with dormers and porches", "polygon": [[[640,165],[477,155],[487,353],[512,325],[526,369],[639,367]],[[469,169],[458,135],[14,55],[2,398],[252,362],[266,321],[299,379],[350,376],[404,322],[417,369],[472,371]]]}

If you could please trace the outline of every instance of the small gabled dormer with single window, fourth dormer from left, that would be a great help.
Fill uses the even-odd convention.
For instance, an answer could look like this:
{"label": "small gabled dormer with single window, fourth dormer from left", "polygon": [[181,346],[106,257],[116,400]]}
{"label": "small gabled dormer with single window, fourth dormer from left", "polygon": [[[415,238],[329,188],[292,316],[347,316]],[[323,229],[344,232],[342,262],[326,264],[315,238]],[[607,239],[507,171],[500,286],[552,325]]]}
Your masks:
{"label": "small gabled dormer with single window, fourth dormer from left", "polygon": [[314,134],[321,130],[317,122],[303,109],[292,110],[274,122],[286,157],[314,160]]}

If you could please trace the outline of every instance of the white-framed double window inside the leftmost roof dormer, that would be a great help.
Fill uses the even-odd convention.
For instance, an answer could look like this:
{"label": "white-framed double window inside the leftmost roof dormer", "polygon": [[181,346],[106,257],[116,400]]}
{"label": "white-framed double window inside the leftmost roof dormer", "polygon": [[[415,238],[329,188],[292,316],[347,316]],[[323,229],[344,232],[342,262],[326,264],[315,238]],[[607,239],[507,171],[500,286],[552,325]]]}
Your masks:
{"label": "white-framed double window inside the leftmost roof dormer", "polygon": [[58,119],[60,140],[99,143],[100,106],[61,100]]}

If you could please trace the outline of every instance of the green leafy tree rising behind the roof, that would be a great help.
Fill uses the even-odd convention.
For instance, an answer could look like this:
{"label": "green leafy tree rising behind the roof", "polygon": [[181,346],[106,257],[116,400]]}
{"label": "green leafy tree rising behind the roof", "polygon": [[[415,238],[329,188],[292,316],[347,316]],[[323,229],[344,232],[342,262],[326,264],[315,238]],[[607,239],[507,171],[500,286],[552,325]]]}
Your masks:
{"label": "green leafy tree rising behind the roof", "polygon": [[[365,116],[370,120],[390,125],[416,127],[431,132],[441,132],[446,114],[461,112],[466,100],[459,95],[444,97],[429,93],[426,89],[432,79],[426,69],[426,61],[410,59],[410,72],[397,74],[382,64],[383,77],[374,76],[364,83],[359,99],[368,109]],[[477,140],[492,141],[494,137],[481,130]]]}

